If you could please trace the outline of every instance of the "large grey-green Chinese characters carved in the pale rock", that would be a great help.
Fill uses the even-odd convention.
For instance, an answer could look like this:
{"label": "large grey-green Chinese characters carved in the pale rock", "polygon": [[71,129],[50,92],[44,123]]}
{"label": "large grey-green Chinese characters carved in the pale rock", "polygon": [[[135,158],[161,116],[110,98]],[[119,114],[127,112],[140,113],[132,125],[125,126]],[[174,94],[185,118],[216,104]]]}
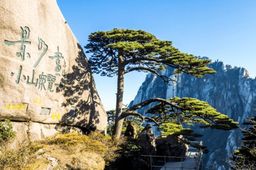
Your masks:
{"label": "large grey-green Chinese characters carved in the pale rock", "polygon": [[[31,56],[26,50],[26,45],[31,45],[31,41],[29,41],[30,30],[28,27],[21,27],[21,40],[18,41],[10,41],[4,40],[4,43],[8,46],[12,46],[14,44],[20,43],[19,52],[16,53],[17,57],[20,57],[22,61],[25,60],[25,56],[28,58],[37,57]],[[33,67],[36,68],[42,58],[47,55],[48,45],[43,41],[41,38],[38,37],[38,51],[41,52],[40,56],[37,57],[36,62],[34,63]],[[22,70],[23,66],[20,65],[17,70],[11,72],[11,77],[15,77],[16,84],[19,84],[20,80],[23,78],[27,85],[32,85],[36,87],[38,90],[45,90],[53,92],[53,87],[63,87],[63,84],[57,83],[60,82],[61,78],[66,76],[66,61],[62,53],[60,53],[60,48],[57,46],[57,52],[54,56],[48,56],[49,60],[54,61],[56,63],[55,68],[53,69],[54,72],[43,72],[38,76],[35,77],[35,69],[31,70],[31,75],[23,75]],[[61,71],[62,70],[62,71]]]}

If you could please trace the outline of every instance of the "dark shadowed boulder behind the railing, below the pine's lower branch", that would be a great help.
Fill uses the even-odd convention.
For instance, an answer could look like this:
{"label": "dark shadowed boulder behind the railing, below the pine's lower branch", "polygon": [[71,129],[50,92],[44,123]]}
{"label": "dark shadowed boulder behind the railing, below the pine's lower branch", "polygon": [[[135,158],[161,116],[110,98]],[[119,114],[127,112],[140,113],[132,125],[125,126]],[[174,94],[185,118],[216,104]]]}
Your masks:
{"label": "dark shadowed boulder behind the railing, below the pine's lower branch", "polygon": [[[179,136],[182,138],[182,135]],[[156,137],[156,155],[158,156],[172,156],[172,157],[183,157],[182,158],[168,158],[168,161],[181,161],[186,157],[188,145],[182,143],[177,138],[171,135],[165,137]]]}

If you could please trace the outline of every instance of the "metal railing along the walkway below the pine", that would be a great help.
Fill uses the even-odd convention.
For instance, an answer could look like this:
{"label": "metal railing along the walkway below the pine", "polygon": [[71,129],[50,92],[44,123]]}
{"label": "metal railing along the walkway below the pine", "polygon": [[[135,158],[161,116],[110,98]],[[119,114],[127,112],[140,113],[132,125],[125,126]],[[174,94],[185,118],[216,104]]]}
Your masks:
{"label": "metal railing along the walkway below the pine", "polygon": [[[195,141],[191,141],[191,142],[194,142]],[[191,152],[191,153],[195,153],[195,155],[193,157],[189,157],[189,156],[181,156],[181,157],[177,157],[177,156],[155,156],[155,155],[141,155],[141,156],[145,156],[145,157],[150,157],[150,169],[152,170],[153,167],[164,167],[164,169],[166,170],[166,168],[170,167],[170,168],[181,168],[181,169],[196,169],[196,170],[202,170],[202,164],[203,164],[203,150],[202,150],[202,145],[203,145],[203,142],[200,141],[200,142],[197,142],[197,143],[200,143],[199,146],[200,146],[200,149],[197,149],[197,148],[188,148],[189,150],[196,150],[196,152]],[[152,161],[152,158],[164,158],[164,165],[153,165],[153,161]],[[180,158],[181,159],[181,166],[179,167],[175,167],[175,166],[167,166],[166,165],[166,159],[168,158]],[[194,159],[194,166],[193,167],[186,167],[184,166],[183,164],[183,159]]]}

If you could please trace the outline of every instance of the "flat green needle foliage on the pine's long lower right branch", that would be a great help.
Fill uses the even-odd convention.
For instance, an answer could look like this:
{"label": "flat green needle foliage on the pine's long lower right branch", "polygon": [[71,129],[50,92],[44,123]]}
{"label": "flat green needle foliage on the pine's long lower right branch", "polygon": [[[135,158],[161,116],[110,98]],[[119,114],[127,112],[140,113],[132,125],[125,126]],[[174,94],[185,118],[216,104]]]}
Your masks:
{"label": "flat green needle foliage on the pine's long lower right branch", "polygon": [[[173,133],[173,130],[168,131],[167,127],[176,129],[176,133],[181,133],[179,129],[182,128],[180,123],[184,125],[193,126],[199,124],[202,128],[223,129],[230,130],[238,128],[238,123],[234,122],[227,115],[221,114],[211,107],[207,102],[203,102],[194,98],[171,98],[169,103],[161,102],[156,104],[147,113],[152,113],[159,124],[163,124],[165,134],[167,132]],[[166,124],[168,123],[168,124]],[[177,124],[175,126],[174,124]],[[179,128],[179,126],[181,126]],[[185,129],[190,131],[190,129]]]}

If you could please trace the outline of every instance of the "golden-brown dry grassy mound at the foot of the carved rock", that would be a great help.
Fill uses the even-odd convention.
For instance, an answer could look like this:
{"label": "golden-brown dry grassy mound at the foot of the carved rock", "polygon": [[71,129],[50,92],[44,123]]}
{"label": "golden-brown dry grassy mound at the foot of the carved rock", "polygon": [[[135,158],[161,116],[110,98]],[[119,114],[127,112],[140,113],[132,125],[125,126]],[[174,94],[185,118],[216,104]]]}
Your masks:
{"label": "golden-brown dry grassy mound at the foot of the carved rock", "polygon": [[[8,145],[0,150],[0,169],[104,169],[114,161],[119,144],[109,136],[94,132],[57,134],[43,141],[23,143],[15,149]],[[46,156],[48,155],[48,156]],[[53,165],[51,159],[57,160]]]}

